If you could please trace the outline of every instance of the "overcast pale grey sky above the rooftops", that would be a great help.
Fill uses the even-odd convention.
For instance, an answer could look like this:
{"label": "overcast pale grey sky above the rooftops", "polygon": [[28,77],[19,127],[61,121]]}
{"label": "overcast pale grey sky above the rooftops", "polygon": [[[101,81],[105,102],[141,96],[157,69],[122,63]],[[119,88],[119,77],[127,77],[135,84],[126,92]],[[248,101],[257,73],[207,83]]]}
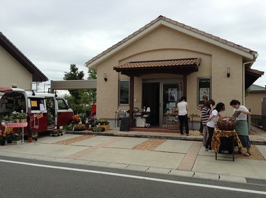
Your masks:
{"label": "overcast pale grey sky above the rooftops", "polygon": [[[265,8],[264,0],[0,0],[0,31],[49,80],[72,63],[87,78],[86,61],[159,15],[258,52],[252,68],[265,71]],[[265,86],[266,73],[254,84]]]}

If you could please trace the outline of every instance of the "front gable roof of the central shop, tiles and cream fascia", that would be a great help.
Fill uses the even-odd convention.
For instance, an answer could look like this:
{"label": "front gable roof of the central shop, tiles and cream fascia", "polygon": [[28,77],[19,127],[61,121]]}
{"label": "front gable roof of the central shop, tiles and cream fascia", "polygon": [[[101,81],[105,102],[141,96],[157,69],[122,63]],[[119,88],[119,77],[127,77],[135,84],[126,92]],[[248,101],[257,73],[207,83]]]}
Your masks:
{"label": "front gable roof of the central shop, tiles and cream fascia", "polygon": [[103,61],[109,55],[117,52],[118,50],[121,50],[123,47],[127,45],[130,45],[132,41],[137,40],[138,38],[143,36],[145,33],[148,33],[149,31],[152,31],[153,29],[156,29],[158,26],[161,26],[161,25],[169,26],[170,28],[176,29],[177,31],[181,31],[190,36],[194,36],[195,38],[205,40],[208,43],[212,43],[213,45],[218,45],[219,47],[223,47],[226,50],[230,50],[232,52],[240,54],[241,56],[245,57],[246,61],[253,61],[258,56],[258,52],[255,52],[251,49],[248,49],[241,45],[237,45],[223,38],[219,38],[218,36],[213,36],[210,33],[206,33],[199,29],[195,29],[191,26],[176,22],[174,20],[171,20],[167,17],[160,15],[155,20],[146,24],[144,27],[142,27],[138,31],[135,31],[130,36],[127,36],[127,38],[124,38],[120,42],[116,43],[116,45],[113,45],[112,47],[109,47],[109,49],[105,50],[101,54],[94,56],[92,59],[90,59],[89,61],[85,63],[86,66],[93,68],[95,64]]}

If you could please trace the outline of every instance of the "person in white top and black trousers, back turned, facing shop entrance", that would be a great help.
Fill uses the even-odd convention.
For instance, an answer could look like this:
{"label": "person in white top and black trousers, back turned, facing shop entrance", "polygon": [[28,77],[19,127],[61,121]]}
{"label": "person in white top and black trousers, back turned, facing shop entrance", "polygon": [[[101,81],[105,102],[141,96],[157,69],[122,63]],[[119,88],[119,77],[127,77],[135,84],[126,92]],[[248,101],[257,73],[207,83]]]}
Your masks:
{"label": "person in white top and black trousers, back turned, facing shop entrance", "polygon": [[179,123],[180,123],[180,133],[183,135],[183,125],[185,124],[186,135],[188,136],[188,102],[185,96],[182,96],[180,102],[177,104],[179,109]]}

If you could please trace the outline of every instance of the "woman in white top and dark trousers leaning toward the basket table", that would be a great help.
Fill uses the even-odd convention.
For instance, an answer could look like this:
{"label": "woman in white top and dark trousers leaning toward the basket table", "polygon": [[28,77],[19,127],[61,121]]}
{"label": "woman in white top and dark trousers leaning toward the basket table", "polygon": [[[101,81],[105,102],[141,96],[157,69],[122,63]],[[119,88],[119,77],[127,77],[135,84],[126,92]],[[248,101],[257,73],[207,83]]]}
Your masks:
{"label": "woman in white top and dark trousers leaning toward the basket table", "polygon": [[209,116],[209,119],[206,121],[209,137],[207,139],[205,151],[212,151],[211,139],[212,139],[212,136],[214,135],[214,128],[215,128],[216,122],[218,121],[218,118],[221,117],[219,113],[223,112],[224,110],[225,110],[225,104],[223,104],[222,102],[219,102],[216,105],[215,109],[211,111],[211,115]]}

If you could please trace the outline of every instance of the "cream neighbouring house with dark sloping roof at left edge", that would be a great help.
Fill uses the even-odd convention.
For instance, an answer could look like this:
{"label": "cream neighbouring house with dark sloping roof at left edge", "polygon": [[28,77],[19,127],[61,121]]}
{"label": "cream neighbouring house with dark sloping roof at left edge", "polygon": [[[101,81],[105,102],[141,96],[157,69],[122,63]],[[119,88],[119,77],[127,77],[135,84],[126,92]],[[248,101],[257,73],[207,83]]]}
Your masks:
{"label": "cream neighbouring house with dark sloping roof at left edge", "polygon": [[0,87],[31,90],[32,82],[48,78],[0,32]]}

